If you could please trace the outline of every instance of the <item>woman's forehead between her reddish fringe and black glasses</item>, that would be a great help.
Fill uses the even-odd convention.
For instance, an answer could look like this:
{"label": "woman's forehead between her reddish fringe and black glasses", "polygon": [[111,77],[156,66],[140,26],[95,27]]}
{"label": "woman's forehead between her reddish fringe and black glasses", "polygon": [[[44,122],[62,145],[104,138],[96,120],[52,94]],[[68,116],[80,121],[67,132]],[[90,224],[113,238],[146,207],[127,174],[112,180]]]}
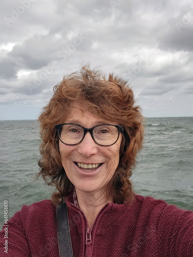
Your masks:
{"label": "woman's forehead between her reddish fringe and black glasses", "polygon": [[101,119],[99,116],[89,111],[89,108],[90,106],[87,106],[85,103],[72,104],[64,122],[75,123],[85,127],[92,127],[92,126],[104,124],[104,123],[116,124],[114,122],[111,122],[108,119],[107,120]]}

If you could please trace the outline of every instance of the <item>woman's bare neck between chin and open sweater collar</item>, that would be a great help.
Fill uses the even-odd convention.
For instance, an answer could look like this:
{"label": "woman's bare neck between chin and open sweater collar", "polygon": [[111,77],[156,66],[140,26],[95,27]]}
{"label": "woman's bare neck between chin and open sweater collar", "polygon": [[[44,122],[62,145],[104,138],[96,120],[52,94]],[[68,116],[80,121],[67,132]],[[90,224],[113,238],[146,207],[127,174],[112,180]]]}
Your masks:
{"label": "woman's bare neck between chin and open sweater collar", "polygon": [[100,209],[107,203],[113,203],[112,197],[107,197],[103,192],[87,193],[76,188],[76,194],[79,207],[84,212],[90,227],[92,227]]}

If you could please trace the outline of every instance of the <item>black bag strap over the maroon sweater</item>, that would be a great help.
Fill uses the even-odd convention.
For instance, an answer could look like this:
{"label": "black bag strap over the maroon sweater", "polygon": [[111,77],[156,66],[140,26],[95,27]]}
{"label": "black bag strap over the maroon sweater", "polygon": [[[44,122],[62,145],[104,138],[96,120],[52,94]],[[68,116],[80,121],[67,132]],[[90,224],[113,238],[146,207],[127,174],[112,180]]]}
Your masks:
{"label": "black bag strap over the maroon sweater", "polygon": [[73,257],[73,247],[71,242],[71,233],[69,232],[66,203],[57,205],[56,219],[59,255],[60,257]]}

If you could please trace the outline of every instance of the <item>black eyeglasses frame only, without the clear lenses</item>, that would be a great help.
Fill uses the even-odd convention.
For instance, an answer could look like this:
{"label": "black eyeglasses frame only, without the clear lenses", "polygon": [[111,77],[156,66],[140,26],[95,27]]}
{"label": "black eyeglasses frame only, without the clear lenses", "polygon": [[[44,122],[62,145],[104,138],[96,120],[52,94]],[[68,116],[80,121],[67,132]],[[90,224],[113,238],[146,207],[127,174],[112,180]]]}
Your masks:
{"label": "black eyeglasses frame only, without the clear lenses", "polygon": [[[82,140],[84,139],[84,137],[85,137],[85,135],[86,135],[87,132],[90,132],[90,134],[91,134],[91,136],[92,136],[92,139],[94,140],[95,143],[97,143],[97,142],[95,141],[94,137],[93,137],[93,130],[94,130],[94,128],[97,127],[97,126],[102,126],[102,125],[111,125],[111,126],[115,126],[115,127],[117,128],[117,130],[118,130],[118,137],[117,137],[117,140],[118,140],[118,138],[119,138],[120,132],[124,132],[124,128],[123,128],[122,126],[114,125],[114,124],[99,124],[99,125],[96,125],[96,126],[91,127],[91,128],[86,128],[86,127],[83,127],[83,126],[81,126],[81,125],[79,125],[79,124],[75,124],[75,123],[62,123],[62,124],[56,125],[55,128],[56,128],[58,137],[59,137],[60,141],[61,141],[63,144],[66,144],[66,143],[64,143],[64,142],[61,140],[61,138],[60,138],[60,127],[61,127],[62,125],[67,125],[67,124],[69,124],[69,125],[76,125],[76,126],[82,127],[82,129],[83,129],[83,131],[84,131],[84,134],[83,134],[83,137],[82,137],[82,139],[81,139],[81,141],[80,141],[79,143],[82,142]],[[116,140],[114,143],[109,144],[109,145],[103,145],[103,144],[99,144],[99,143],[97,143],[97,144],[98,144],[98,145],[101,145],[101,146],[110,146],[110,145],[115,144],[115,143],[117,142],[117,140]],[[79,143],[76,143],[76,144],[79,144]],[[66,145],[76,145],[76,144],[66,144]]]}

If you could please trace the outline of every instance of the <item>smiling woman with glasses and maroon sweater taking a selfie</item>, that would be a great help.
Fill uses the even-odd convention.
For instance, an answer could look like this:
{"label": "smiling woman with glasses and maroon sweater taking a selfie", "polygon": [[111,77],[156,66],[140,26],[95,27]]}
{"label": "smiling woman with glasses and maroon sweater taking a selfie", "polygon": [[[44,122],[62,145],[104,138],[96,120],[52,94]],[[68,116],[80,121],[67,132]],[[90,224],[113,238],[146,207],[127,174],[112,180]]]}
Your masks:
{"label": "smiling woman with glasses and maroon sweater taking a selfie", "polygon": [[59,256],[64,202],[74,256],[193,256],[193,213],[133,192],[144,127],[127,82],[85,66],[55,86],[39,121],[39,176],[56,192],[9,220],[8,256]]}

